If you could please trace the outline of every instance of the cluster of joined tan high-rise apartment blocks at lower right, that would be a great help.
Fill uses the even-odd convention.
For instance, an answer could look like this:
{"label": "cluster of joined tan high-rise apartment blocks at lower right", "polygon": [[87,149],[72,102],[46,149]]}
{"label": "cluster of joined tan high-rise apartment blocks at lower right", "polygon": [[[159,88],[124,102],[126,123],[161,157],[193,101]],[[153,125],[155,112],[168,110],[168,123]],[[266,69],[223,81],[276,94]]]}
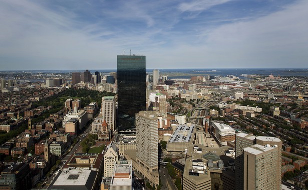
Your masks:
{"label": "cluster of joined tan high-rise apartment blocks at lower right", "polygon": [[237,133],[235,139],[235,188],[281,189],[279,138]]}

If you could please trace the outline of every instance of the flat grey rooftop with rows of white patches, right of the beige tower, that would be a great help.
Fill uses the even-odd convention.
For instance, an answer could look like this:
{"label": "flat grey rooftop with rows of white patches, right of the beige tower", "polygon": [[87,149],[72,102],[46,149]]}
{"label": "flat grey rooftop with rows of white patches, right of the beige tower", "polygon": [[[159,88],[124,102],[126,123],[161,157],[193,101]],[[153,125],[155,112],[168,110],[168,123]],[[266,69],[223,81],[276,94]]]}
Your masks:
{"label": "flat grey rooftop with rows of white patches, right of the beige tower", "polygon": [[168,142],[189,142],[194,129],[194,124],[191,124],[190,126],[187,124],[180,124],[174,130]]}

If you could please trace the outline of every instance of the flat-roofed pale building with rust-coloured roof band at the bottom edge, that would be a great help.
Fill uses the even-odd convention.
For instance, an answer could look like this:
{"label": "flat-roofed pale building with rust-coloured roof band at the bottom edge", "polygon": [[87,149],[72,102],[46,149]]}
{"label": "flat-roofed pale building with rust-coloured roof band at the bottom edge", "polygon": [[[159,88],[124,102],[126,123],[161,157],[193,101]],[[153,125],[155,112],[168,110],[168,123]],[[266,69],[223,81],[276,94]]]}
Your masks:
{"label": "flat-roofed pale building with rust-coloured roof band at the bottom edge", "polygon": [[133,183],[133,162],[131,160],[116,161],[112,174],[110,190],[131,190]]}

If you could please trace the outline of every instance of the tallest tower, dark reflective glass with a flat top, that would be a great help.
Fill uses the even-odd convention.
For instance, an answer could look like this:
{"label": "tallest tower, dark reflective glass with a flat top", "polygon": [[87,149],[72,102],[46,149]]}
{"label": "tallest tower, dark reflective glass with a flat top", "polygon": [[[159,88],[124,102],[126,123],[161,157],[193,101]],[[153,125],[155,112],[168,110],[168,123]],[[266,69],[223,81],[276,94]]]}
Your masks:
{"label": "tallest tower, dark reflective glass with a flat top", "polygon": [[145,56],[118,55],[118,127],[134,126],[135,114],[146,109]]}

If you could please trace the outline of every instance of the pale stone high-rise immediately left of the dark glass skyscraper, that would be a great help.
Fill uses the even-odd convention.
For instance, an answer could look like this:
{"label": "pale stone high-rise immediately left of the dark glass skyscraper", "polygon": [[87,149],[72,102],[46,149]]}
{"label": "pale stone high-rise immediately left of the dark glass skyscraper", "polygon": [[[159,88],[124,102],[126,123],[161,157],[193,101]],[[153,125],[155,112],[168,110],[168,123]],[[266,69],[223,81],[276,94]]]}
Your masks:
{"label": "pale stone high-rise immediately left of the dark glass skyscraper", "polygon": [[116,128],[116,100],[114,96],[102,97],[102,114],[112,131]]}

